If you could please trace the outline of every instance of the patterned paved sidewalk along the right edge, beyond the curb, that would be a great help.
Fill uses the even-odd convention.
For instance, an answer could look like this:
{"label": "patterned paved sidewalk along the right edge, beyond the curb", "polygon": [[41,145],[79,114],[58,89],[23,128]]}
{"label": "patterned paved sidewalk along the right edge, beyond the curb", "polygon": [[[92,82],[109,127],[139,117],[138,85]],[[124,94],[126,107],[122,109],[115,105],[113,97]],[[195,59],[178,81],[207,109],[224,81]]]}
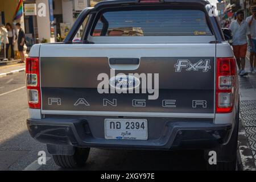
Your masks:
{"label": "patterned paved sidewalk along the right edge, beyond the curb", "polygon": [[[246,56],[246,71],[250,68],[249,55]],[[256,73],[239,77],[240,84],[240,118],[242,130],[246,135],[247,143],[256,161]],[[240,141],[239,141],[240,142]],[[247,148],[248,149],[248,148]],[[248,150],[247,150],[248,151]],[[240,151],[241,152],[241,151]],[[246,159],[247,160],[247,159]],[[253,161],[252,159],[249,159]],[[256,164],[256,163],[255,163]]]}

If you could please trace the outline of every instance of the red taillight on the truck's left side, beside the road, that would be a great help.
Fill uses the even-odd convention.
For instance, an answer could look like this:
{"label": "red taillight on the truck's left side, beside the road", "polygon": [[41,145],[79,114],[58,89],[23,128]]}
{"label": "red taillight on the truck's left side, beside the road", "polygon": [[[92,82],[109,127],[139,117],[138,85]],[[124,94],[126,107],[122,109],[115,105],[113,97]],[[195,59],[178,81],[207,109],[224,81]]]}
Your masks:
{"label": "red taillight on the truck's left side, beside the road", "polygon": [[40,109],[41,98],[38,57],[28,57],[26,60],[26,84],[28,94],[28,106],[31,109]]}

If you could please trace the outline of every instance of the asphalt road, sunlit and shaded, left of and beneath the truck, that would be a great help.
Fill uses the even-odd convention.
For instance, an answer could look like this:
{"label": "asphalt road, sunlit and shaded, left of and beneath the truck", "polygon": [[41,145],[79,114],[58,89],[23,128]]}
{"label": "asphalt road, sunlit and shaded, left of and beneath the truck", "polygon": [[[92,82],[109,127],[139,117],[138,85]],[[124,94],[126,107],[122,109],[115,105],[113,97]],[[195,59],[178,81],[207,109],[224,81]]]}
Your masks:
{"label": "asphalt road, sunlit and shaded, left of and beneath the truck", "polygon": [[[36,165],[46,145],[28,134],[25,73],[0,77],[0,170],[61,170],[47,153],[46,165]],[[202,151],[136,151],[92,148],[79,170],[204,170]]]}

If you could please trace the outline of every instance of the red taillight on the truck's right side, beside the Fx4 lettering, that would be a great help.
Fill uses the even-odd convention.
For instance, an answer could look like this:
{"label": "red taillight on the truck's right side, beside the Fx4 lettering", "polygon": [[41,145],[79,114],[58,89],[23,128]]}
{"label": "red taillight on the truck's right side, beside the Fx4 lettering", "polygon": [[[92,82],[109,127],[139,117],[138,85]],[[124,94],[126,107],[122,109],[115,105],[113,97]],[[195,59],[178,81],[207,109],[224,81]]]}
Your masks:
{"label": "red taillight on the truck's right side, beside the Fx4 lettering", "polygon": [[216,112],[230,113],[236,96],[236,59],[217,58]]}

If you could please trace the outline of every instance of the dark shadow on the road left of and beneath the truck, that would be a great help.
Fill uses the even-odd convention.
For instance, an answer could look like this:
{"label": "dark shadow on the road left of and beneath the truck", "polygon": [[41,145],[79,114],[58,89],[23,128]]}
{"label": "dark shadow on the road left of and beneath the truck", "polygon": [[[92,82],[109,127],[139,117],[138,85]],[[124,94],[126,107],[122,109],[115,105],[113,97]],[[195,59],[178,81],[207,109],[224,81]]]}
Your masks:
{"label": "dark shadow on the road left of and beneath the truck", "polygon": [[[56,166],[46,144],[23,131],[0,143],[0,169],[23,170],[39,158],[39,151],[51,157],[38,170],[67,170]],[[74,169],[73,169],[74,170]],[[203,151],[142,151],[91,148],[87,164],[75,170],[205,170]]]}

